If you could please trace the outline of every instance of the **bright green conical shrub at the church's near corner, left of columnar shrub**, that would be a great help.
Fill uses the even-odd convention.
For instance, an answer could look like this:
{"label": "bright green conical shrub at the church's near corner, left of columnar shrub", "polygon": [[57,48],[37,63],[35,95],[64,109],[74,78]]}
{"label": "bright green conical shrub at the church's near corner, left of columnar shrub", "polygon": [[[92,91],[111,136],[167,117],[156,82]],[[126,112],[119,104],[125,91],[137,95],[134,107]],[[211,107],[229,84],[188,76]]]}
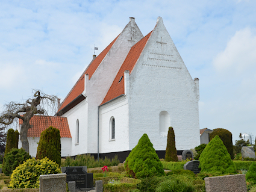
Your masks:
{"label": "bright green conical shrub at the church's near corner, left of columnar shrub", "polygon": [[125,170],[133,178],[164,175],[163,165],[147,134],[142,135],[136,147],[126,158]]}

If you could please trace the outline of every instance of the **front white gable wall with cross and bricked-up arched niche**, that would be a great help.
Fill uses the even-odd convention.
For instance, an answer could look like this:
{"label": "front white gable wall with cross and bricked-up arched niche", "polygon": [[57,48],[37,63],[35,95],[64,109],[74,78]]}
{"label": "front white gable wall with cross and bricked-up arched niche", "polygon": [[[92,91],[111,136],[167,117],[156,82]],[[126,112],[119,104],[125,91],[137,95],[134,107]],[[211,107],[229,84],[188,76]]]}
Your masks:
{"label": "front white gable wall with cross and bricked-up arched niche", "polygon": [[198,93],[160,20],[130,76],[130,150],[144,133],[155,150],[166,150],[167,137],[160,133],[161,111],[170,116],[177,150],[198,146]]}

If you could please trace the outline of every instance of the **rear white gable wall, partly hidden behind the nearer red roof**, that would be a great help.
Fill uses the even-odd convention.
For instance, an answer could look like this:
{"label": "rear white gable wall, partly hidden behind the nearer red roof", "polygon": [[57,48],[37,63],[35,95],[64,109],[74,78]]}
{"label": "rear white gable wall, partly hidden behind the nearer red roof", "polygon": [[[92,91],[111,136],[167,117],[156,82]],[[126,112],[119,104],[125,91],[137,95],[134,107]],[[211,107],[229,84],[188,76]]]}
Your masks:
{"label": "rear white gable wall, partly hidden behind the nearer red roof", "polygon": [[86,95],[89,103],[88,114],[88,150],[89,153],[98,152],[98,106],[104,100],[117,72],[122,66],[131,46],[139,42],[143,35],[134,19],[126,25],[122,33],[114,42],[102,63],[86,82]]}

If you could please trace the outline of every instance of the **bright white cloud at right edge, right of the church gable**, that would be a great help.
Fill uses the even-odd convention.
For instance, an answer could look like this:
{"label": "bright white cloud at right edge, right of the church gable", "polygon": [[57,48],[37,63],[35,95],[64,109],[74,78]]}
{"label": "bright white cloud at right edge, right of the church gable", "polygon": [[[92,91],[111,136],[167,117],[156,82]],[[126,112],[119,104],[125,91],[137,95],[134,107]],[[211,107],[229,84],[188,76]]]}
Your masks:
{"label": "bright white cloud at right edge, right of the church gable", "polygon": [[253,32],[251,28],[245,28],[231,37],[225,50],[217,54],[213,61],[218,72],[240,74],[255,67],[256,34]]}

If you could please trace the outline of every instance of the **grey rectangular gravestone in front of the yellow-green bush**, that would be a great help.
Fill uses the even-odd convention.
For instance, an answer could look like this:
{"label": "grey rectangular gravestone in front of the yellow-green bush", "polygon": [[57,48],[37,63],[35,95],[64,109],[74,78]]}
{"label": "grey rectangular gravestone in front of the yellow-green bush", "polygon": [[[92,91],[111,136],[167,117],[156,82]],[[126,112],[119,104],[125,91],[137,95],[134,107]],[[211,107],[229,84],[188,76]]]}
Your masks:
{"label": "grey rectangular gravestone in front of the yellow-green bush", "polygon": [[66,191],[66,174],[40,175],[40,192]]}

